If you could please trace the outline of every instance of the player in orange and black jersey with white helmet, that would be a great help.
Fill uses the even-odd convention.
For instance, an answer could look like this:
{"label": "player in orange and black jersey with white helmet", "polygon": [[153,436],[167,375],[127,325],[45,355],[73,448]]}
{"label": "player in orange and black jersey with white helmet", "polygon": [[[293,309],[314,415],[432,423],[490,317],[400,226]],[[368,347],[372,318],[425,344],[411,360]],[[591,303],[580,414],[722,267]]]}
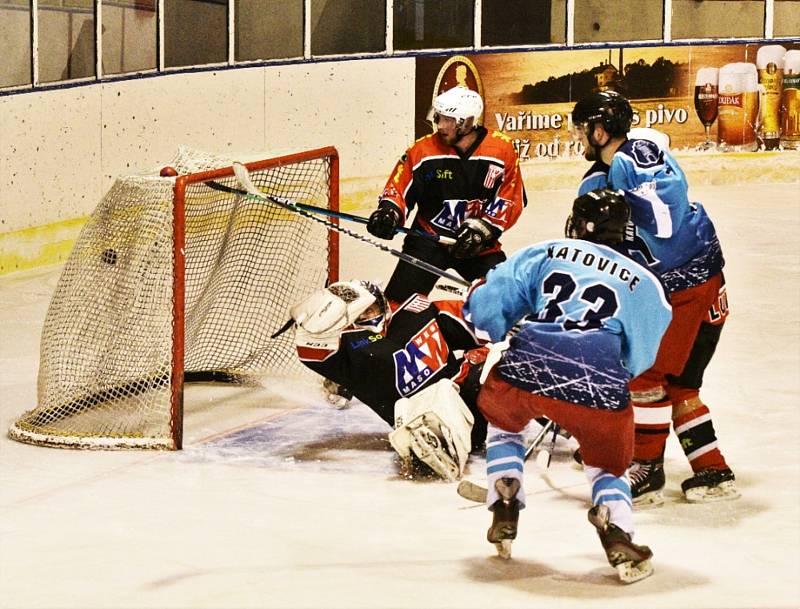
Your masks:
{"label": "player in orange and black jersey with white helmet", "polygon": [[[436,97],[431,121],[435,132],[417,140],[395,165],[369,218],[367,230],[391,239],[416,207],[403,251],[439,268],[452,268],[472,281],[506,259],[499,242],[527,203],[519,157],[503,133],[477,124],[481,96],[454,87]],[[455,238],[452,245],[437,237]],[[400,261],[386,296],[403,302],[428,294],[436,276]]]}

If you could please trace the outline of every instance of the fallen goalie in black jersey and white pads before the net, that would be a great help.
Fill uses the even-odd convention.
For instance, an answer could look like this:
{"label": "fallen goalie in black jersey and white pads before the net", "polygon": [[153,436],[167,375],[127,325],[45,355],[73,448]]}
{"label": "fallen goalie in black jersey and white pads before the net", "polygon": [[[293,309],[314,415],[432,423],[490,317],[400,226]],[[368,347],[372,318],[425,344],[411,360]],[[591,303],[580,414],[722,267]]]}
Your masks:
{"label": "fallen goalie in black jersey and white pads before the net", "polygon": [[376,284],[340,281],[291,309],[300,361],[395,427],[404,469],[417,460],[448,481],[486,437],[475,405],[485,349],[461,305],[415,294],[392,310]]}

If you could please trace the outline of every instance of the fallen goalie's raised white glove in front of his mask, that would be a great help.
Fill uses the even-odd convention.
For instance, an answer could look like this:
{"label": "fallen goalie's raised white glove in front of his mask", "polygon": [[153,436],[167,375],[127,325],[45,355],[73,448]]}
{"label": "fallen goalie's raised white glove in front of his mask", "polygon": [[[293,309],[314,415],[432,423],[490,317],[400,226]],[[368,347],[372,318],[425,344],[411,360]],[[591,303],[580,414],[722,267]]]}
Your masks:
{"label": "fallen goalie's raised white glove in front of his mask", "polygon": [[289,314],[297,324],[295,343],[312,349],[335,350],[342,330],[375,302],[357,281],[338,281],[294,305]]}

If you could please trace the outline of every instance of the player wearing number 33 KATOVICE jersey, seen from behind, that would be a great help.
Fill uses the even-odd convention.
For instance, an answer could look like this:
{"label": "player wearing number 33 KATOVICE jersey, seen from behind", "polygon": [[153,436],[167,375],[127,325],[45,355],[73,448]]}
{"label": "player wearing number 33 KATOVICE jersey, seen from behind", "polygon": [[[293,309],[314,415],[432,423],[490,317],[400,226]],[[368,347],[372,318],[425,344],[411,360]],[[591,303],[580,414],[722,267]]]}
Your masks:
{"label": "player wearing number 33 KATOVICE jersey, seen from behind", "polygon": [[510,556],[525,507],[522,431],[545,416],[580,442],[592,486],[589,520],[608,561],[632,582],[652,572],[652,552],[631,540],[628,381],[655,361],[671,309],[658,278],[612,247],[628,219],[621,193],[578,197],[569,238],[537,243],[499,264],[470,290],[464,313],[479,337],[496,343],[519,328],[493,347],[502,354],[493,367],[487,360],[478,395],[489,422],[488,540]]}

